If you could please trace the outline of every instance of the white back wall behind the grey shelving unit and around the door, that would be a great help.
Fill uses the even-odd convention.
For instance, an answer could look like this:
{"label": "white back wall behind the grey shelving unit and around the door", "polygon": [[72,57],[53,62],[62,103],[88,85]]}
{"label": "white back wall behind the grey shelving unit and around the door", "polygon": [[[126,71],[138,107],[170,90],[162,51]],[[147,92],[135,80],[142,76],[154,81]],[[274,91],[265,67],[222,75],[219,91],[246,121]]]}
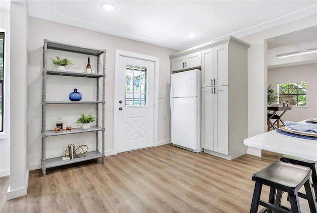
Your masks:
{"label": "white back wall behind the grey shelving unit and around the door", "polygon": [[[119,49],[159,57],[159,94],[162,94],[163,99],[159,99],[158,144],[169,143],[170,112],[168,94],[170,60],[168,55],[176,53],[177,51],[33,17],[29,17],[28,24],[29,66],[27,86],[29,97],[28,146],[30,170],[41,168],[42,53],[44,39],[96,49],[106,49],[106,155],[112,155],[113,150],[113,87],[115,50]],[[84,60],[84,63],[87,63],[86,60],[87,59]],[[48,59],[48,64],[50,61],[51,59]],[[70,92],[72,91],[64,91],[67,97]],[[60,140],[64,139],[60,138]],[[54,149],[53,152],[49,153],[49,155],[55,155],[55,157],[61,156],[61,150],[64,150],[64,147],[61,144],[62,142],[58,143],[56,146],[48,144],[52,149]],[[64,142],[64,144],[67,144],[67,142]]]}

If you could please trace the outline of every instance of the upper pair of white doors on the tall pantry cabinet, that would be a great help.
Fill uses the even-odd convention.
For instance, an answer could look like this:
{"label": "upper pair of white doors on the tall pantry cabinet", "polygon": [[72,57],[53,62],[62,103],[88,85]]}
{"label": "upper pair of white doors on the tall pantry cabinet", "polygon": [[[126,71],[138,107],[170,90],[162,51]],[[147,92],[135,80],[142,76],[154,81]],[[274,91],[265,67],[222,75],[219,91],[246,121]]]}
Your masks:
{"label": "upper pair of white doors on the tall pantry cabinet", "polygon": [[228,45],[202,51],[202,87],[229,84]]}

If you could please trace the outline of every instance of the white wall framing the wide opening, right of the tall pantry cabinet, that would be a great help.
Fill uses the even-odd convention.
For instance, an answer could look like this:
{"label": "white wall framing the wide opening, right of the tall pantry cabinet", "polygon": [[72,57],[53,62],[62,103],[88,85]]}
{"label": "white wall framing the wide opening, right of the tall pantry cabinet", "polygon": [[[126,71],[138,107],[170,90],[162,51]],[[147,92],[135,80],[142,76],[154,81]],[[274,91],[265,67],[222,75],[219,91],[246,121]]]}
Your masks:
{"label": "white wall framing the wide opening, right of the tall pantry cabinet", "polygon": [[[269,38],[305,29],[317,25],[317,14],[292,21],[277,27],[269,28],[239,39],[251,46],[248,51],[248,136],[258,135],[266,131],[267,108],[267,65],[266,41]],[[261,156],[261,150],[249,152]]]}

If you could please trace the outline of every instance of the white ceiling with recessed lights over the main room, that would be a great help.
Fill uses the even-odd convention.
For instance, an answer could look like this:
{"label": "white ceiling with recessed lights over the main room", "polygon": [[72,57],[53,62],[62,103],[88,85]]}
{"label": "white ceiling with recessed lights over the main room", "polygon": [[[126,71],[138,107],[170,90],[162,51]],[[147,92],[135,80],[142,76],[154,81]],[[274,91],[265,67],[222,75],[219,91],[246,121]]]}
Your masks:
{"label": "white ceiling with recessed lights over the main room", "polygon": [[[316,0],[27,0],[29,15],[175,50],[317,13]],[[101,5],[111,3],[114,11]],[[196,37],[188,37],[195,33]],[[284,39],[277,43],[285,43]],[[275,42],[270,46],[275,47]]]}

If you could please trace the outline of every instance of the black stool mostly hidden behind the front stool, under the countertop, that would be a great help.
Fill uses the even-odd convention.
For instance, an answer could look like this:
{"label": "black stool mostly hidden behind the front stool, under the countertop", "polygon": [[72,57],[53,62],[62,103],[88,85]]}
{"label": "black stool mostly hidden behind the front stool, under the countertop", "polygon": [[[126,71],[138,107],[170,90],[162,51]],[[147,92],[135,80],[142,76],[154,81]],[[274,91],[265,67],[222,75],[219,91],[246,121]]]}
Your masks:
{"label": "black stool mostly hidden behind the front stool, under the countertop", "polygon": [[[295,165],[302,165],[309,167],[312,170],[312,186],[315,192],[315,199],[317,202],[317,162],[312,161],[312,160],[307,160],[307,159],[301,159],[301,158],[296,158],[293,156],[288,156],[288,155],[282,155],[279,160],[283,162],[289,162]],[[298,196],[301,198],[305,198],[305,195],[303,193],[298,193]]]}

